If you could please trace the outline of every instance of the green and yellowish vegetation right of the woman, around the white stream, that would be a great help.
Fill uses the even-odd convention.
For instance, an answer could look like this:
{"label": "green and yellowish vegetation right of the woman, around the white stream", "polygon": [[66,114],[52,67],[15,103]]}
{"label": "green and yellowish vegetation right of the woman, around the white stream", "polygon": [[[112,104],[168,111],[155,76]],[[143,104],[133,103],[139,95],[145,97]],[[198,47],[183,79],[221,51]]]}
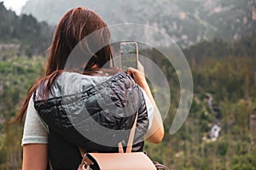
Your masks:
{"label": "green and yellowish vegetation right of the woman, around the white stream", "polygon": [[[192,68],[195,94],[187,121],[176,134],[168,134],[176,113],[171,105],[165,139],[160,145],[147,144],[148,155],[171,169],[255,169],[255,64],[255,58],[230,57],[206,59]],[[203,138],[216,122],[206,92],[214,96],[221,111],[222,130],[217,141]],[[177,99],[173,95],[172,99]]]}

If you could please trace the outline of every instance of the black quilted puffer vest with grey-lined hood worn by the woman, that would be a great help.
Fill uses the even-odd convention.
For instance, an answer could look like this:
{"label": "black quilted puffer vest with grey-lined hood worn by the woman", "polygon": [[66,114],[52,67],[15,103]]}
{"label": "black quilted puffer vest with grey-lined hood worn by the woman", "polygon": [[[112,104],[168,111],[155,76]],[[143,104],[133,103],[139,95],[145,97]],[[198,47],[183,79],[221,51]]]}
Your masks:
{"label": "black quilted puffer vest with grey-lined hood worn by the woman", "polygon": [[41,84],[33,96],[39,116],[49,127],[49,159],[54,170],[76,169],[88,152],[118,152],[126,144],[138,111],[132,151],[143,150],[148,112],[141,88],[125,72],[102,78],[100,83],[79,73],[64,72],[48,99]]}

